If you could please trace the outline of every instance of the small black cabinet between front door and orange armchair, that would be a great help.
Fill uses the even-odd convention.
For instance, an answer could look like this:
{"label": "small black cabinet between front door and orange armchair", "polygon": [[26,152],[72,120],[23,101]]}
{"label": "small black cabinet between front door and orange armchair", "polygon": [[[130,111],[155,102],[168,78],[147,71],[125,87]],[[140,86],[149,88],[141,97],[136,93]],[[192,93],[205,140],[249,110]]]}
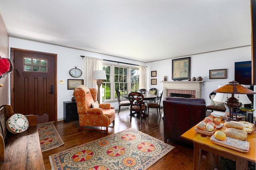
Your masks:
{"label": "small black cabinet between front door and orange armchair", "polygon": [[76,108],[76,102],[68,101],[63,102],[64,121],[66,123],[74,120],[78,120],[78,112]]}

